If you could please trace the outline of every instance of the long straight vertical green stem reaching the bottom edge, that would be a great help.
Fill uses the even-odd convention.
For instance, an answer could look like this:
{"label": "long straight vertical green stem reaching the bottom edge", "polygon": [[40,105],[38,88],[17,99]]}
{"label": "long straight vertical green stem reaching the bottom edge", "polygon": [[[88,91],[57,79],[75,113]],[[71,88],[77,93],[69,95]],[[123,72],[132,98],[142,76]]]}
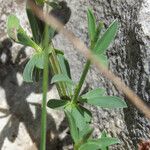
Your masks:
{"label": "long straight vertical green stem reaching the bottom edge", "polygon": [[41,119],[41,145],[40,150],[46,150],[46,124],[47,124],[47,113],[46,113],[46,101],[48,91],[48,26],[45,26],[44,36],[44,72],[43,72],[43,100],[42,100],[42,119]]}

